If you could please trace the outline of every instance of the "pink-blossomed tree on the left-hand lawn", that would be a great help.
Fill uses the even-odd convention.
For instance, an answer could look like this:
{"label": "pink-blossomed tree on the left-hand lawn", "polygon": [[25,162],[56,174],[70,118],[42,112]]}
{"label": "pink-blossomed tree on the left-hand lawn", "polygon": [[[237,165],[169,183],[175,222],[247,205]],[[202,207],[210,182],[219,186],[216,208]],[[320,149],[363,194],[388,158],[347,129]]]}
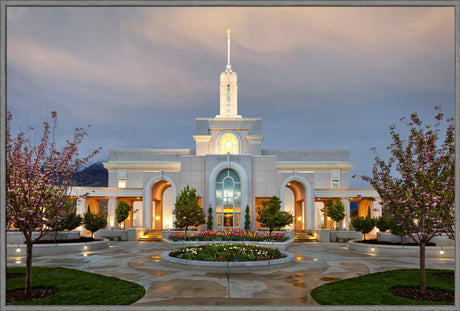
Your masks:
{"label": "pink-blossomed tree on the left-hand lawn", "polygon": [[[72,212],[66,208],[72,188],[72,176],[78,168],[95,156],[100,148],[84,158],[78,158],[78,147],[87,132],[76,128],[71,139],[59,150],[56,137],[57,114],[51,113],[51,125],[43,123],[38,143],[11,130],[13,116],[7,113],[6,122],[6,211],[7,223],[19,229],[27,246],[26,288],[32,288],[32,250],[35,242],[51,230],[56,223]],[[33,128],[29,128],[29,136]],[[38,236],[32,238],[32,233]]]}

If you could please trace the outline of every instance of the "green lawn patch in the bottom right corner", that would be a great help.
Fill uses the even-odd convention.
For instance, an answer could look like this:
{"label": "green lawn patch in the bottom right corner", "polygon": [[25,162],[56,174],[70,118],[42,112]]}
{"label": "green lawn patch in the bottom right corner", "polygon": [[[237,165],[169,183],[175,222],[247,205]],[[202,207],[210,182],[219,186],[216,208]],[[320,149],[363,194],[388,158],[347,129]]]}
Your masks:
{"label": "green lawn patch in the bottom right corner", "polygon": [[[390,294],[395,287],[420,286],[418,269],[402,269],[378,272],[319,286],[311,291],[313,298],[322,305],[415,305],[449,304],[415,301]],[[427,288],[454,292],[455,280],[436,276],[454,274],[452,270],[426,270]]]}

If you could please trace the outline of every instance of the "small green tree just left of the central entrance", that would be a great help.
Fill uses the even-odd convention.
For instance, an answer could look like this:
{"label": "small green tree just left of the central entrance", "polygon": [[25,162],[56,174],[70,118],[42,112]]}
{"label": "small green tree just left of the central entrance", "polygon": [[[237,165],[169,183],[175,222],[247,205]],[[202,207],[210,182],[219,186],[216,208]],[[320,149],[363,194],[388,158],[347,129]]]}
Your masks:
{"label": "small green tree just left of the central entrance", "polygon": [[196,194],[196,189],[189,186],[176,199],[173,214],[175,216],[174,226],[185,229],[187,235],[188,227],[200,226],[205,223],[203,209],[198,204],[200,197]]}

